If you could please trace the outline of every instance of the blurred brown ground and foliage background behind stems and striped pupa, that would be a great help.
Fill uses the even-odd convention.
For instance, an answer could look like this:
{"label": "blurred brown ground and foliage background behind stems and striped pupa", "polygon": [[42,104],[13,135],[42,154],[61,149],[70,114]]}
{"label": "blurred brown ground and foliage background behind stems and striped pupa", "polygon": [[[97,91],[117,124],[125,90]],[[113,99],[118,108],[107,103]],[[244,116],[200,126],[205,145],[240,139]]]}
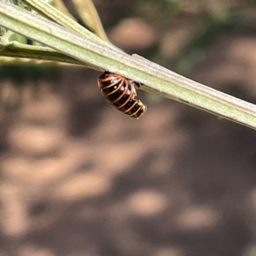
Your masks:
{"label": "blurred brown ground and foliage background behind stems and striped pupa", "polygon": [[[127,53],[256,102],[254,1],[94,3]],[[256,255],[256,132],[142,91],[131,119],[99,75],[1,64],[0,255]]]}

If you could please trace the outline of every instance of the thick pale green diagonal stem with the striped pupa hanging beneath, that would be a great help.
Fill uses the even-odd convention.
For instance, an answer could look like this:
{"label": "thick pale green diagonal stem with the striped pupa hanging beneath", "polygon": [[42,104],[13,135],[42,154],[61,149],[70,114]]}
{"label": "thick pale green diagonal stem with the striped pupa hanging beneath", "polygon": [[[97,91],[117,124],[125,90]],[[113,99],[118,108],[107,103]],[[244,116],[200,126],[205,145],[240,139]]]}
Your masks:
{"label": "thick pale green diagonal stem with the striped pupa hanging beneath", "polygon": [[[32,38],[79,61],[146,84],[151,91],[256,129],[256,106],[213,90],[137,55],[126,55],[0,0],[0,26]],[[103,41],[102,41],[103,42]]]}

